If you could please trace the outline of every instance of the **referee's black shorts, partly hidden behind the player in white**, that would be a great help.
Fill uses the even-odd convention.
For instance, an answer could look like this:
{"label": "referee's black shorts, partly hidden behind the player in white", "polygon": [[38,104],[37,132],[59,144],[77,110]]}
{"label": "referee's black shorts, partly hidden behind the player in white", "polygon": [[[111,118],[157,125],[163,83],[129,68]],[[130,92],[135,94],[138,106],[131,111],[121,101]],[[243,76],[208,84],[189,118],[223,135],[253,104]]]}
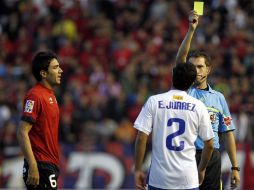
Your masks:
{"label": "referee's black shorts, partly hidden behind the player in white", "polygon": [[[200,162],[202,151],[196,151],[197,164]],[[218,149],[214,149],[212,157],[208,163],[205,179],[200,190],[221,190],[221,155]]]}

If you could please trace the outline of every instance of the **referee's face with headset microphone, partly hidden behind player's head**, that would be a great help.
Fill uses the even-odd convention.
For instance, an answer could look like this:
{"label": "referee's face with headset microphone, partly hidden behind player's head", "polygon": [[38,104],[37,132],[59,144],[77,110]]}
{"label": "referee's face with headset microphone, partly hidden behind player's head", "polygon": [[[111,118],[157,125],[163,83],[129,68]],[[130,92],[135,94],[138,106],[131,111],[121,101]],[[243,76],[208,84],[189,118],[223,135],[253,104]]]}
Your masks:
{"label": "referee's face with headset microphone, partly hidden behind player's head", "polygon": [[207,76],[210,73],[210,67],[207,67],[205,64],[204,57],[191,57],[189,61],[196,66],[197,69],[197,78],[195,84],[197,86],[206,85]]}

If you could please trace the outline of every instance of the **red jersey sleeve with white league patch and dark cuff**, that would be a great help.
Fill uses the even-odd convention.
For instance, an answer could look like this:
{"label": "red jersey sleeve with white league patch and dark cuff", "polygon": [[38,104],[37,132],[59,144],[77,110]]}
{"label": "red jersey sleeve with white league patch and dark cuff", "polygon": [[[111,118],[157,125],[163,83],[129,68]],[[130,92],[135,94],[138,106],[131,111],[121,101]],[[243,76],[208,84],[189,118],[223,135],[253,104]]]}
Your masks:
{"label": "red jersey sleeve with white league patch and dark cuff", "polygon": [[28,94],[24,100],[21,120],[34,124],[41,111],[41,103],[38,95]]}

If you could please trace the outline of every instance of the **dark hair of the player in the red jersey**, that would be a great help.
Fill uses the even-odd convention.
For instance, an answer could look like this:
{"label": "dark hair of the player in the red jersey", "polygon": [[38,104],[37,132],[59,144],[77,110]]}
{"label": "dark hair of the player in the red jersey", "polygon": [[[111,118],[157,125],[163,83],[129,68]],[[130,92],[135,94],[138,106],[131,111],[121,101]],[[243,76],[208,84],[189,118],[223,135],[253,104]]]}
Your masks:
{"label": "dark hair of the player in the red jersey", "polygon": [[49,64],[52,59],[57,59],[57,56],[52,51],[38,52],[32,61],[32,73],[37,81],[41,81],[40,72],[48,71]]}

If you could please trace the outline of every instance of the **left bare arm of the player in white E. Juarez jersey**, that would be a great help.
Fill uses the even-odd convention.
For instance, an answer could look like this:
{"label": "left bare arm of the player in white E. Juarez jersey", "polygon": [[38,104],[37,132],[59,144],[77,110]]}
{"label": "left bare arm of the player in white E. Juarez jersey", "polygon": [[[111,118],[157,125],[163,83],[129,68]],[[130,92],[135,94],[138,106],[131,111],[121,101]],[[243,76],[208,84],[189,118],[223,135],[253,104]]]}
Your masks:
{"label": "left bare arm of the player in white E. Juarez jersey", "polygon": [[145,175],[142,171],[142,164],[146,152],[148,135],[139,131],[135,142],[135,182],[138,189],[145,189]]}

